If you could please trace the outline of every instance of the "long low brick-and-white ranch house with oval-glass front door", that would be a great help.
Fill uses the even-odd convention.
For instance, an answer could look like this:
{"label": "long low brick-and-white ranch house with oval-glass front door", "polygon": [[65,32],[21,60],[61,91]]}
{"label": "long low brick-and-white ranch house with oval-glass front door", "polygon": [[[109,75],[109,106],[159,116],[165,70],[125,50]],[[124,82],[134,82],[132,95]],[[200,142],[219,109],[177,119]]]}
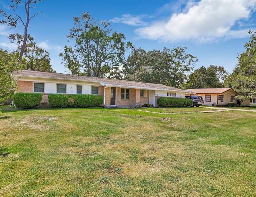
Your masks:
{"label": "long low brick-and-white ranch house with oval-glass front door", "polygon": [[42,103],[48,103],[49,94],[95,94],[103,96],[102,106],[106,108],[135,107],[144,104],[157,106],[156,101],[159,97],[184,98],[185,94],[189,93],[161,84],[32,70],[15,71],[12,75],[18,81],[16,93],[42,93]]}

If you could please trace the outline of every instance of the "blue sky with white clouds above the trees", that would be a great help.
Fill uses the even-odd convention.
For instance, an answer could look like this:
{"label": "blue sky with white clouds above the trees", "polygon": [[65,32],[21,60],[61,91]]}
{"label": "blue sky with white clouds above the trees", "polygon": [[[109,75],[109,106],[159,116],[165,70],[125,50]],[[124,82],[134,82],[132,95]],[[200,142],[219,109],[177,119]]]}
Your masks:
{"label": "blue sky with white clouds above the trees", "polygon": [[[9,0],[0,0],[8,10]],[[130,0],[81,1],[44,0],[32,11],[43,11],[29,24],[37,44],[50,52],[51,64],[57,72],[68,73],[58,54],[70,43],[66,35],[73,26],[72,17],[88,11],[97,20],[110,20],[114,31],[125,34],[127,41],[146,50],[186,46],[200,66],[224,66],[229,72],[237,64],[237,54],[244,51],[248,29],[255,30],[256,0]],[[21,7],[17,13],[23,14]],[[22,33],[0,25],[0,47],[13,50],[9,33]]]}

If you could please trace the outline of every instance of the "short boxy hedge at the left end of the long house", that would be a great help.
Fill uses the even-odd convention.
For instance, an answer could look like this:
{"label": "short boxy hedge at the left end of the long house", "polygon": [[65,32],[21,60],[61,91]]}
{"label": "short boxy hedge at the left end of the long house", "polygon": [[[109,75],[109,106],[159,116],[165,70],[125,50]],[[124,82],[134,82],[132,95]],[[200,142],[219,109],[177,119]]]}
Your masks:
{"label": "short boxy hedge at the left end of the long house", "polygon": [[41,93],[16,93],[12,100],[17,108],[35,108],[43,99]]}

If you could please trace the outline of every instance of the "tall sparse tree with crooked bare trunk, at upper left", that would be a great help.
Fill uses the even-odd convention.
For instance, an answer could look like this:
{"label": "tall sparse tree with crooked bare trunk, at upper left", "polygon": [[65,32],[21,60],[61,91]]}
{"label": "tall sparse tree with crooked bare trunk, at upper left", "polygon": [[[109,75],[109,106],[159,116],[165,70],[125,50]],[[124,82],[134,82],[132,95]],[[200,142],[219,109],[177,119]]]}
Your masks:
{"label": "tall sparse tree with crooked bare trunk, at upper left", "polygon": [[35,8],[35,3],[42,2],[43,0],[11,0],[10,8],[15,11],[18,9],[19,6],[24,5],[25,6],[25,12],[26,12],[26,19],[24,20],[21,16],[17,14],[7,14],[6,11],[0,9],[0,14],[4,17],[3,20],[0,20],[0,23],[6,24],[12,27],[17,27],[18,21],[20,21],[24,26],[24,40],[22,43],[22,47],[20,48],[20,56],[23,56],[23,53],[25,51],[26,43],[27,43],[27,29],[29,22],[32,18],[34,18],[38,14],[42,14],[43,12],[37,12],[34,15],[30,15],[30,9]]}

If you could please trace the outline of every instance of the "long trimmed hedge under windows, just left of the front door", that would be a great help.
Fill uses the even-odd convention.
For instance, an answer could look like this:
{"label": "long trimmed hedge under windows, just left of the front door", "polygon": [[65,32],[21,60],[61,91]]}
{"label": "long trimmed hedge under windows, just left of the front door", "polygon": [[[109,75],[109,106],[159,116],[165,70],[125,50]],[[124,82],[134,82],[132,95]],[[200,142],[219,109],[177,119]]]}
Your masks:
{"label": "long trimmed hedge under windows, just left of the front door", "polygon": [[49,94],[52,108],[90,108],[102,104],[102,96],[91,94]]}

